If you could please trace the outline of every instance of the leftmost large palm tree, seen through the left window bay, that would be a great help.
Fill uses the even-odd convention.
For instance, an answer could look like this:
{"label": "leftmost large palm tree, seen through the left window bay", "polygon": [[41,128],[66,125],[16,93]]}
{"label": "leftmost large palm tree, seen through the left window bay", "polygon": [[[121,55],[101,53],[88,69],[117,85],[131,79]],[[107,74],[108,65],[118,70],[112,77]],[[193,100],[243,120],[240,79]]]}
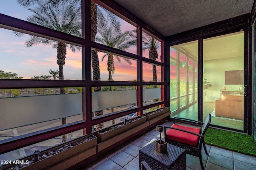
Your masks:
{"label": "leftmost large palm tree, seen through the left window bay", "polygon": [[[33,9],[28,8],[34,14],[27,18],[27,21],[42,25],[57,31],[75,35],[81,37],[80,29],[81,24],[81,4],[80,1],[66,1],[62,0],[62,3],[58,3],[56,0],[42,1],[42,0],[18,0],[18,3],[26,4],[28,7],[33,4],[38,6]],[[71,3],[72,2],[72,3]],[[22,33],[16,33],[16,36],[20,36]],[[25,42],[26,47],[32,47],[34,45],[52,45],[53,48],[57,49],[57,64],[59,66],[59,79],[64,80],[63,66],[66,59],[66,47],[70,47],[72,52],[75,52],[80,47],[76,45],[68,45],[67,43],[54,41],[52,39],[46,39],[37,37],[34,35],[30,36]],[[60,88],[60,94],[65,94],[65,89]],[[62,125],[66,124],[66,118],[62,118]],[[66,135],[62,136],[62,141],[66,141]]]}

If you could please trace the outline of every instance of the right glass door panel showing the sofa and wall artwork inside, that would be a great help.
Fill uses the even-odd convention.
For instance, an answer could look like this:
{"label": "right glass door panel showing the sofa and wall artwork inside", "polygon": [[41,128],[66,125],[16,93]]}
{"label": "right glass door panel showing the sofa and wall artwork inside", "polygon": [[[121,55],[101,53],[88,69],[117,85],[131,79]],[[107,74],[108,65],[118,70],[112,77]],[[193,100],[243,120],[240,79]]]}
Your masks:
{"label": "right glass door panel showing the sofa and wall artwork inside", "polygon": [[203,41],[203,117],[243,130],[244,31]]}

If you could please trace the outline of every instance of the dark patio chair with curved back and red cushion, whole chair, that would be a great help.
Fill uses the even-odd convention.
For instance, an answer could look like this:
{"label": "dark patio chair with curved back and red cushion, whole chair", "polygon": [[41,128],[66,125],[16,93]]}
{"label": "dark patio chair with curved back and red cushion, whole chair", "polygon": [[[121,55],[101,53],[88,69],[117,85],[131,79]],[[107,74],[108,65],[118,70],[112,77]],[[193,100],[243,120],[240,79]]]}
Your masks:
{"label": "dark patio chair with curved back and red cushion, whole chair", "polygon": [[[202,131],[200,128],[187,127],[182,125],[176,125],[177,121],[188,121],[190,124],[196,123],[197,126],[202,127]],[[175,145],[177,147],[183,148],[186,150],[187,154],[196,156],[200,160],[200,165],[202,170],[204,170],[203,162],[202,162],[202,145],[204,146],[204,151],[208,155],[206,150],[206,146],[204,143],[204,134],[208,129],[211,123],[211,115],[208,114],[204,123],[201,121],[195,121],[186,118],[174,117],[174,125],[172,127],[164,126],[164,137],[167,143]],[[166,131],[168,129],[168,131]]]}

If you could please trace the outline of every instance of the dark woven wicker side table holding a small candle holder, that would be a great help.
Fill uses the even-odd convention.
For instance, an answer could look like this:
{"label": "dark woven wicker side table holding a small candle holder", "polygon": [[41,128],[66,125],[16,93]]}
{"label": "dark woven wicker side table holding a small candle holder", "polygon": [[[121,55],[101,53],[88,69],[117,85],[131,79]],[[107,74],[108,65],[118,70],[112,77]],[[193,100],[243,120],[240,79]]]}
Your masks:
{"label": "dark woven wicker side table holding a small candle holder", "polygon": [[186,170],[186,150],[167,143],[167,152],[156,151],[155,143],[139,150],[141,162],[145,160],[152,170]]}

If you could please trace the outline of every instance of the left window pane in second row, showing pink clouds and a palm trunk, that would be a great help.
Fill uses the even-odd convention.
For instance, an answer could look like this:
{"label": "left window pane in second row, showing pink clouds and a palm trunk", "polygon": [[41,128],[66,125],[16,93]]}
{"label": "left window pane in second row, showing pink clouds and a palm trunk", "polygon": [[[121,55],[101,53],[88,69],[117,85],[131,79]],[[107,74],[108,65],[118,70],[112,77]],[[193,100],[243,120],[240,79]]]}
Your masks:
{"label": "left window pane in second row, showing pink clouds and a palm trunk", "polygon": [[[14,32],[8,29],[1,29],[0,37],[0,70],[4,73],[16,73],[17,77],[23,79],[53,79],[55,74],[56,80],[82,80],[80,47],[28,34],[15,37]],[[38,42],[36,39],[44,42]],[[30,44],[30,41],[39,44]],[[57,52],[57,48],[62,48],[66,53]],[[75,52],[72,52],[73,49]],[[63,69],[62,72],[60,68]]]}

